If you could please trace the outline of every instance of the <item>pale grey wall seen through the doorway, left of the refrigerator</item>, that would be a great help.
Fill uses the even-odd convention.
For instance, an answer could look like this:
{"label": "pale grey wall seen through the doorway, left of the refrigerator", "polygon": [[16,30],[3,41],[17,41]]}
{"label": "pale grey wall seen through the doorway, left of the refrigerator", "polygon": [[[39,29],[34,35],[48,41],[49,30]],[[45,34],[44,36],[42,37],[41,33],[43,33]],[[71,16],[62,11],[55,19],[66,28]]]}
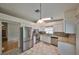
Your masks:
{"label": "pale grey wall seen through the doorway, left of the refrigerator", "polygon": [[9,44],[18,44],[20,47],[20,24],[16,22],[8,22],[8,42]]}

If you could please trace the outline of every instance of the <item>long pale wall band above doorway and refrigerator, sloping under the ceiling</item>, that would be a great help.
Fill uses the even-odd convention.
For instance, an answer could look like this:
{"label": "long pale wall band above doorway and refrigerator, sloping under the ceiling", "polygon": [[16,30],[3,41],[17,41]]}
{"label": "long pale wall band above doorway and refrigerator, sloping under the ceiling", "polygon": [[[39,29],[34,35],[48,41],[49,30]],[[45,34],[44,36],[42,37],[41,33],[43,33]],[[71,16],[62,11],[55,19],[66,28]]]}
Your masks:
{"label": "long pale wall band above doorway and refrigerator, sloping under the ceiling", "polygon": [[3,14],[3,13],[0,13],[0,19],[21,23],[21,26],[27,26],[27,27],[33,27],[33,28],[38,27],[35,23],[30,22],[26,19],[17,18],[11,15]]}

